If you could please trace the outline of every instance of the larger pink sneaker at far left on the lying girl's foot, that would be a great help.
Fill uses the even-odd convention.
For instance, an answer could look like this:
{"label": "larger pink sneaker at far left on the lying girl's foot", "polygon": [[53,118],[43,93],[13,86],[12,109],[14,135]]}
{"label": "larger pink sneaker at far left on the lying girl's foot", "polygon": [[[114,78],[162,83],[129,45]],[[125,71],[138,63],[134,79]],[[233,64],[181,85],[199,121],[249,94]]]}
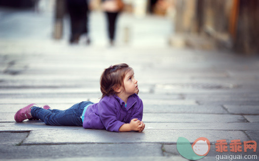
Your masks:
{"label": "larger pink sneaker at far left on the lying girl's foot", "polygon": [[20,110],[17,111],[17,113],[14,115],[14,120],[16,122],[22,122],[26,119],[31,119],[32,114],[31,114],[31,109],[32,107],[38,107],[35,103],[30,104]]}

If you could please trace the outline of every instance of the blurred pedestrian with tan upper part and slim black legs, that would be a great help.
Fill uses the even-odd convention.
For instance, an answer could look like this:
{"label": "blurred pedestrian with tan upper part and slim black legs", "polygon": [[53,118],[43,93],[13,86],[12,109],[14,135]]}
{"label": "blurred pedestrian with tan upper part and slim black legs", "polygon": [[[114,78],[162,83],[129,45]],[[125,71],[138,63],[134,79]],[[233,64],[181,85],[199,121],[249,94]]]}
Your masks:
{"label": "blurred pedestrian with tan upper part and slim black legs", "polygon": [[123,6],[122,0],[103,0],[102,8],[107,18],[108,35],[111,45],[114,45],[116,20]]}

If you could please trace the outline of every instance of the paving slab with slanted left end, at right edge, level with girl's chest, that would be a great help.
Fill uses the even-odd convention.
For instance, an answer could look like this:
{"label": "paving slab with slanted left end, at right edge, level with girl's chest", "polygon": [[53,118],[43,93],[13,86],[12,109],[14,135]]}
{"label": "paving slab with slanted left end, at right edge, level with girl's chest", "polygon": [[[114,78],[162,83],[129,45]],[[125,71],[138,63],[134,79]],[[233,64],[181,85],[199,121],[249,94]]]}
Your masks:
{"label": "paving slab with slanted left end, at right edge, level with girl's chest", "polygon": [[259,105],[256,106],[231,106],[231,105],[224,105],[228,112],[232,114],[259,114]]}

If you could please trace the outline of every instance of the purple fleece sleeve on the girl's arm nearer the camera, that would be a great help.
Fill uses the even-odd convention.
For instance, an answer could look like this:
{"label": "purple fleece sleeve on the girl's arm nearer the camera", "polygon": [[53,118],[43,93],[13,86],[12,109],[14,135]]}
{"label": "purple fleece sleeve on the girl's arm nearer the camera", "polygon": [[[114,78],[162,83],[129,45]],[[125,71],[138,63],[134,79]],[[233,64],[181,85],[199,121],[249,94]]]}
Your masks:
{"label": "purple fleece sleeve on the girl's arm nearer the camera", "polygon": [[103,122],[106,130],[119,132],[119,128],[124,124],[124,122],[117,120],[116,109],[114,105],[108,101],[99,102],[98,111],[100,119]]}

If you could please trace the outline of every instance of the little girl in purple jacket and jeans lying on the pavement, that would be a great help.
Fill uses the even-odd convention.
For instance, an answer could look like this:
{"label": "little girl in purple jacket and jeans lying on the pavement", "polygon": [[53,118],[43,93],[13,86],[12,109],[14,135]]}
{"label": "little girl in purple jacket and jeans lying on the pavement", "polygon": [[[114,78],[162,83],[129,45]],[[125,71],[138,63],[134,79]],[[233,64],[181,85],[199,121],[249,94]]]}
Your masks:
{"label": "little girl in purple jacket and jeans lying on the pavement", "polygon": [[47,125],[83,126],[108,131],[143,131],[143,103],[134,71],[127,64],[113,65],[103,72],[100,84],[103,93],[99,103],[83,101],[67,110],[51,110],[30,104],[14,116],[16,122],[40,119]]}

